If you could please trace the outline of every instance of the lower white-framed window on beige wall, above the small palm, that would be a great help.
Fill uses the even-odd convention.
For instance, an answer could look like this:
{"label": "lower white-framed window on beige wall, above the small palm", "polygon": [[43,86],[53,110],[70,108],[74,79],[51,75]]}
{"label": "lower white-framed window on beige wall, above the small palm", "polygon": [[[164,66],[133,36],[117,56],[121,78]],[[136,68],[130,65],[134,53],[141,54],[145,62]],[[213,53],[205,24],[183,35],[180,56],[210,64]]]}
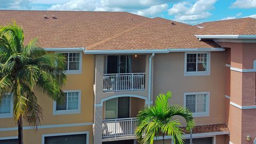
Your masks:
{"label": "lower white-framed window on beige wall, above the small palm", "polygon": [[184,94],[184,106],[187,107],[195,117],[209,116],[210,92],[193,92]]}

